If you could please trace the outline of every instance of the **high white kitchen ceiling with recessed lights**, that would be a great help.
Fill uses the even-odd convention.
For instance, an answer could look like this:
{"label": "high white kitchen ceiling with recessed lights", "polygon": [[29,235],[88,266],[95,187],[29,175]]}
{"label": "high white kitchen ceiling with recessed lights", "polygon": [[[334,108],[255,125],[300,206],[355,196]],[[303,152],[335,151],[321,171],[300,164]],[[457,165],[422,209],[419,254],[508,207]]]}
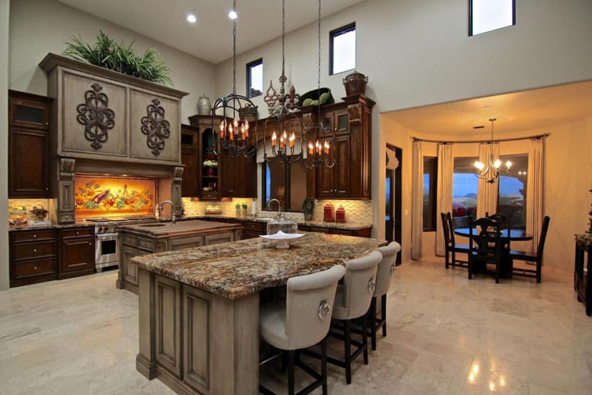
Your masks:
{"label": "high white kitchen ceiling with recessed lights", "polygon": [[[212,63],[232,56],[231,0],[59,0]],[[322,16],[362,0],[322,3]],[[187,22],[193,13],[197,22]],[[281,35],[281,1],[237,1],[237,52]],[[317,0],[286,1],[286,32],[317,20]]]}

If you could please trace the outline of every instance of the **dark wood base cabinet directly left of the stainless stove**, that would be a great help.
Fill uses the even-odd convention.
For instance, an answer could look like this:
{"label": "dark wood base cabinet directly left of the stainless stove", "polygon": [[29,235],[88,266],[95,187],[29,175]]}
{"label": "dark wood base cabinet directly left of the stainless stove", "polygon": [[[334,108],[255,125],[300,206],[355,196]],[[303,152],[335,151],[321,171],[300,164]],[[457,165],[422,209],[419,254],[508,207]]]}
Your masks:
{"label": "dark wood base cabinet directly left of the stainless stove", "polygon": [[58,279],[95,272],[95,238],[90,226],[60,229]]}

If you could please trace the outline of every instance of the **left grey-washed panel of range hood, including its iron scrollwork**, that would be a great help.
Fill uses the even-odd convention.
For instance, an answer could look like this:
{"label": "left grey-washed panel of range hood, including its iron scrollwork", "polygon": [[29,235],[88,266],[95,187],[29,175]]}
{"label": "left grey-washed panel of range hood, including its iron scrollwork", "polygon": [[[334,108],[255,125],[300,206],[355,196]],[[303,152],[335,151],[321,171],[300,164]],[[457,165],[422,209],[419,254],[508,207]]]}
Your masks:
{"label": "left grey-washed panel of range hood, including its iron scrollwork", "polygon": [[[62,116],[58,118],[61,151],[127,155],[125,86],[72,70],[63,70],[61,78],[62,94],[58,108],[58,111],[60,107],[63,111]],[[93,127],[92,120],[96,116],[99,116],[102,122]],[[111,122],[108,121],[109,118]],[[88,131],[85,132],[86,127]],[[102,137],[95,139],[93,135]]]}

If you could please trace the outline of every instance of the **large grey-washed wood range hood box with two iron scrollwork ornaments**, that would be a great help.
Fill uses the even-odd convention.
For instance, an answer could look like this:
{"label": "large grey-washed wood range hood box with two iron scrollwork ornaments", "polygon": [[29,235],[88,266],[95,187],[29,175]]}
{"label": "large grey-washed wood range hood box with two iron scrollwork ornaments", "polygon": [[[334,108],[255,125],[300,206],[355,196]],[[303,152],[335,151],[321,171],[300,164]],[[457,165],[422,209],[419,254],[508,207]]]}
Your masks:
{"label": "large grey-washed wood range hood box with two iron scrollwork ornaments", "polygon": [[187,93],[48,54],[58,156],[180,164],[180,104]]}

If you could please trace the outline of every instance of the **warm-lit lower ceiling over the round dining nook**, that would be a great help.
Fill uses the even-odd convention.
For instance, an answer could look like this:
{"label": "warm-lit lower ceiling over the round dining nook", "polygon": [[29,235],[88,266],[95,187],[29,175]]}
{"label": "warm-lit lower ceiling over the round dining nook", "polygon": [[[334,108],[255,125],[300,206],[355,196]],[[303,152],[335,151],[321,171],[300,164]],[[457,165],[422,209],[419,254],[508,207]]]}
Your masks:
{"label": "warm-lit lower ceiling over the round dining nook", "polygon": [[[544,129],[592,114],[592,81],[392,111],[392,120],[422,134],[467,136]],[[474,130],[476,125],[484,129]],[[544,132],[545,130],[540,130]]]}

